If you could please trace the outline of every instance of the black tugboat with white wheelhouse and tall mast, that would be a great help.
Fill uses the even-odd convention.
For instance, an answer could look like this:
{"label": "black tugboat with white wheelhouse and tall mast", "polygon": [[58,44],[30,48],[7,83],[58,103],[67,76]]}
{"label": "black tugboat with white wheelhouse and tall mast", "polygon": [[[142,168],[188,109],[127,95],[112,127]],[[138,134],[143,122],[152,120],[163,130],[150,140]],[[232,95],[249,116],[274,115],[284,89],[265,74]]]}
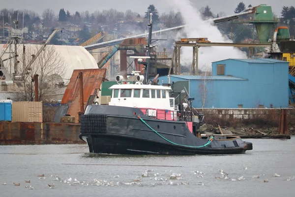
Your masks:
{"label": "black tugboat with white wheelhouse and tall mast", "polygon": [[[239,136],[202,136],[198,128],[204,114],[194,115],[187,104],[176,106],[170,84],[149,81],[152,14],[149,21],[145,73],[135,83],[117,76],[118,85],[110,87],[109,105],[88,105],[81,115],[80,139],[87,142],[90,153],[128,155],[198,155],[240,154],[252,150],[252,143]],[[184,90],[186,91],[186,90]],[[192,100],[189,98],[190,109]]]}

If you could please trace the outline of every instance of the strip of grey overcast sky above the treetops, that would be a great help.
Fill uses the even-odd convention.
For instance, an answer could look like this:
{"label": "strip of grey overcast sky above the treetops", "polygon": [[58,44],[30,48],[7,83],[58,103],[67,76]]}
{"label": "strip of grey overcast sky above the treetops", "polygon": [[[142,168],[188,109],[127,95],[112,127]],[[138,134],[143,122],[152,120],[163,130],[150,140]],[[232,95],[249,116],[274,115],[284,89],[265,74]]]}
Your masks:
{"label": "strip of grey overcast sky above the treetops", "polygon": [[[181,1],[181,0],[179,0]],[[214,14],[219,12],[225,12],[227,15],[234,13],[234,9],[240,0],[191,0],[195,6],[198,8],[205,7],[209,5],[211,11]],[[103,10],[115,8],[118,11],[125,11],[127,9],[132,9],[132,11],[137,11],[141,15],[146,11],[148,4],[154,4],[158,9],[159,13],[169,12],[171,7],[169,6],[169,0],[2,0],[1,8],[14,8],[14,9],[31,9],[42,14],[43,10],[46,8],[52,8],[56,14],[59,13],[60,8],[69,10],[71,13],[75,11],[85,11],[93,12],[95,10]],[[276,15],[280,15],[280,11],[283,5],[291,6],[294,5],[294,0],[243,0],[246,7],[249,4],[252,6],[257,6],[258,4],[268,4],[272,7],[273,12]]]}

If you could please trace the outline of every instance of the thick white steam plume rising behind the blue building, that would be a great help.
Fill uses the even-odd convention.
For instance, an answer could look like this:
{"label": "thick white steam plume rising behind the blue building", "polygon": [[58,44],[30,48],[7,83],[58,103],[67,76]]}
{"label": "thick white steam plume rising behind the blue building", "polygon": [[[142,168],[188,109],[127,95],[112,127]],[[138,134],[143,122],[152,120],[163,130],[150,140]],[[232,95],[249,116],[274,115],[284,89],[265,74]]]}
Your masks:
{"label": "thick white steam plume rising behind the blue building", "polygon": [[[223,36],[216,26],[208,21],[203,21],[200,12],[192,6],[189,0],[172,0],[169,2],[173,9],[181,13],[184,23],[188,25],[184,30],[188,38],[207,37],[211,42],[232,42],[228,37]],[[192,53],[192,47],[181,47],[180,61],[182,65],[191,66]],[[245,59],[247,55],[234,47],[201,47],[199,48],[199,69],[210,69],[212,62],[229,58]]]}

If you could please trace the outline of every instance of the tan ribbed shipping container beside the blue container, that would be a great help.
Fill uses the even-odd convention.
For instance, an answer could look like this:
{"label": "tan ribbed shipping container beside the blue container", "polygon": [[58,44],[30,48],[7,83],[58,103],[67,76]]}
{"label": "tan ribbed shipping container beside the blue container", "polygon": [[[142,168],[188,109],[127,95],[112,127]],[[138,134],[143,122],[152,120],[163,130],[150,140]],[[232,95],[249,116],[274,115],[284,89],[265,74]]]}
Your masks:
{"label": "tan ribbed shipping container beside the blue container", "polygon": [[13,122],[43,122],[42,102],[12,102]]}

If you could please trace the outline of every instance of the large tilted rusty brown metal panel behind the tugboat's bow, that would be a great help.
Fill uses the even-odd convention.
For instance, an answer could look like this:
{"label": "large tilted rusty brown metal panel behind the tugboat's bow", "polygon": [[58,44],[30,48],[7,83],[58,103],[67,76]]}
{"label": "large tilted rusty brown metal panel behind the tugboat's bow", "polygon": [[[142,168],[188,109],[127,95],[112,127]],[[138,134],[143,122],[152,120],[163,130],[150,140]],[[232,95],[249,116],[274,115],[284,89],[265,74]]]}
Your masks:
{"label": "large tilted rusty brown metal panel behind the tugboat's bow", "polygon": [[[78,79],[79,72],[83,72],[83,102],[86,106],[90,95],[93,95],[95,89],[100,89],[102,80],[106,75],[106,68],[97,69],[79,69],[74,70],[67,89],[62,97],[61,103],[71,101],[67,114],[75,116],[75,122],[78,123],[80,110],[80,83]],[[85,107],[84,107],[85,108]]]}

